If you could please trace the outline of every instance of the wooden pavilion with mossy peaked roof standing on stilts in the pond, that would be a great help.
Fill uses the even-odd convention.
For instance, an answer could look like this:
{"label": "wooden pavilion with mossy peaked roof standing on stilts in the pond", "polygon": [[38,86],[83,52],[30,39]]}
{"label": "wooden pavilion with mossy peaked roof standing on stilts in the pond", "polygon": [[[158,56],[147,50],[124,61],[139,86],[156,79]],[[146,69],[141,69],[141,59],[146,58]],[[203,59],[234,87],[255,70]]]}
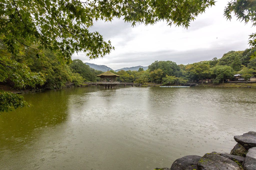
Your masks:
{"label": "wooden pavilion with mossy peaked roof standing on stilts in the pond", "polygon": [[114,74],[109,70],[96,76],[100,77],[100,82],[98,84],[101,88],[116,88],[118,87],[118,84],[120,84],[120,82],[116,81],[116,77],[119,77],[120,75]]}

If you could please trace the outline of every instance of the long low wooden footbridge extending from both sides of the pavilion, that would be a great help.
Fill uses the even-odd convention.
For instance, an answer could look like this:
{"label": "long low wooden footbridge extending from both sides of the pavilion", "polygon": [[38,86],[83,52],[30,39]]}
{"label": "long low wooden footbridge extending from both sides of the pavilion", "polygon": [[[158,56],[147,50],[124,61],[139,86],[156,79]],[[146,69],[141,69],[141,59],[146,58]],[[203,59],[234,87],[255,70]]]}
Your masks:
{"label": "long low wooden footbridge extending from both sides of the pavilion", "polygon": [[141,86],[142,84],[140,83],[132,83],[132,82],[112,82],[112,81],[109,81],[109,82],[84,82],[84,84],[88,84],[88,85],[99,85],[101,88],[116,88],[118,87],[119,84],[123,84],[124,87],[126,85],[131,85],[132,87],[133,86]]}

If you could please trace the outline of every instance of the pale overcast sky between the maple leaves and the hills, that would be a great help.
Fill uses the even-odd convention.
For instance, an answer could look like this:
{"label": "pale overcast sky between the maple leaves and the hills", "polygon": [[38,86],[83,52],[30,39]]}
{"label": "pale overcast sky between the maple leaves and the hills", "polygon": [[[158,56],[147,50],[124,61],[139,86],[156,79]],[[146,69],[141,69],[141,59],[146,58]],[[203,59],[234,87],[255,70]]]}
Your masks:
{"label": "pale overcast sky between the maple leaves and the hills", "polygon": [[72,59],[106,65],[114,70],[123,67],[148,66],[156,60],[171,60],[177,64],[188,64],[214,57],[221,58],[231,50],[248,48],[249,35],[255,32],[251,23],[239,22],[235,17],[227,21],[223,16],[228,1],[219,0],[191,22],[188,29],[169,27],[166,22],[155,25],[136,25],[123,20],[112,23],[98,21],[91,31],[98,31],[105,41],[115,47],[110,55],[89,60],[84,53]]}

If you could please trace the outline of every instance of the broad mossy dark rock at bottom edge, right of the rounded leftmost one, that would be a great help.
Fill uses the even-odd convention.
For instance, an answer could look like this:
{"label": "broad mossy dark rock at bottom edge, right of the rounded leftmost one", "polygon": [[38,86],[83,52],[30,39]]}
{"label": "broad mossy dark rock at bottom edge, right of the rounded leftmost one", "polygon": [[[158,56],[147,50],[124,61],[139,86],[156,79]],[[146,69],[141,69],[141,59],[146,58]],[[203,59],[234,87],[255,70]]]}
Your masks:
{"label": "broad mossy dark rock at bottom edge, right of the rounded leftmost one", "polygon": [[215,153],[205,154],[197,163],[198,170],[241,170],[234,161]]}

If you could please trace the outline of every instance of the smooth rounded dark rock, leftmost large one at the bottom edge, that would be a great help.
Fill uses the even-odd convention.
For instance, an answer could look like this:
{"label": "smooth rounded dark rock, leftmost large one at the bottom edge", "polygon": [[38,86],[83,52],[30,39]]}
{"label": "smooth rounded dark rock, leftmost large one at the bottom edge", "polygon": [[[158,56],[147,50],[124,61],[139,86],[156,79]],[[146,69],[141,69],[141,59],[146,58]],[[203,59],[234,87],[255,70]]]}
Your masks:
{"label": "smooth rounded dark rock, leftmost large one at the bottom edge", "polygon": [[171,167],[171,170],[191,170],[197,169],[197,162],[201,159],[201,156],[188,155],[182,158],[176,159]]}

